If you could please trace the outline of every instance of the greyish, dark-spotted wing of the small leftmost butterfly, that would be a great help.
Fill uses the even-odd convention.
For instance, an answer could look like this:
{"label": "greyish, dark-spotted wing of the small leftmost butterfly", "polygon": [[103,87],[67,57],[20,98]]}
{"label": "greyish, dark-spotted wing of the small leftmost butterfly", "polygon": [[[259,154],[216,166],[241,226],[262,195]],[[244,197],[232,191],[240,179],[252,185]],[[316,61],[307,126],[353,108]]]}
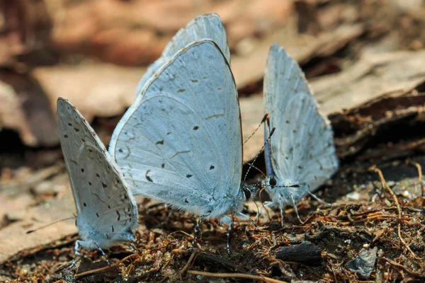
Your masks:
{"label": "greyish, dark-spotted wing of the small leftmost butterfly", "polygon": [[132,240],[137,205],[105,146],[64,98],[57,100],[57,122],[81,238],[101,247]]}

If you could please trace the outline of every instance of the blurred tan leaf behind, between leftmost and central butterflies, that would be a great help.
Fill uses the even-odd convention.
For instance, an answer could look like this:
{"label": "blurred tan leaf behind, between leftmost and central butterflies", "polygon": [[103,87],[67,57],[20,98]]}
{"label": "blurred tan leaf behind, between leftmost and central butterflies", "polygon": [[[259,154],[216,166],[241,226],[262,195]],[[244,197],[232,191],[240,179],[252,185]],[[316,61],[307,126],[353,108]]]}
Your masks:
{"label": "blurred tan leaf behind, between leftmost and central butterflies", "polygon": [[56,110],[59,96],[69,99],[91,122],[94,116],[122,115],[135,99],[135,88],[145,69],[111,64],[78,67],[40,67],[33,74]]}

